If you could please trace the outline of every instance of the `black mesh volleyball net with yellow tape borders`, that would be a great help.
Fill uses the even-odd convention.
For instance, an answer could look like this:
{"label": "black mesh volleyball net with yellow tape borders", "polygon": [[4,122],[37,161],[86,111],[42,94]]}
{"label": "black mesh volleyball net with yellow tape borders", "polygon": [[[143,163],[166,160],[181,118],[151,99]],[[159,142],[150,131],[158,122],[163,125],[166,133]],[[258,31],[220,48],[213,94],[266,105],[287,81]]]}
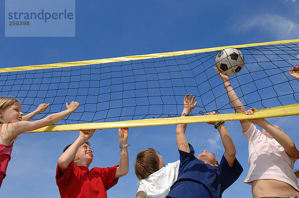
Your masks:
{"label": "black mesh volleyball net with yellow tape borders", "polygon": [[[299,39],[3,68],[0,96],[20,100],[25,114],[40,103],[51,104],[34,119],[66,109],[65,102],[80,103],[56,123],[60,126],[34,132],[248,119],[234,113],[214,70],[217,54],[228,47],[239,49],[245,59],[243,69],[230,76],[245,108],[270,108],[255,118],[299,114],[299,85],[289,75],[299,65]],[[193,116],[179,117],[186,94],[198,103]],[[205,115],[215,110],[221,114]]]}

